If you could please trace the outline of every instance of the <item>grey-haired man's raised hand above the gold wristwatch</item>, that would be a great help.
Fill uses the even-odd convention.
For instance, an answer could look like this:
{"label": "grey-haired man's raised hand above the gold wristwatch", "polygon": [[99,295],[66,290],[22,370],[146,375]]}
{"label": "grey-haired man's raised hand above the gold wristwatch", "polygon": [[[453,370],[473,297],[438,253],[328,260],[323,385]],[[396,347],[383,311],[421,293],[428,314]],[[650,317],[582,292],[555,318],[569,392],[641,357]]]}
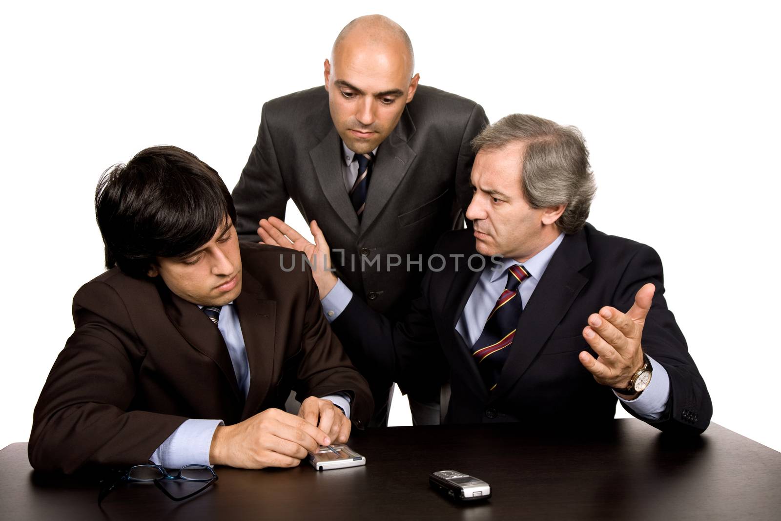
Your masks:
{"label": "grey-haired man's raised hand above the gold wristwatch", "polygon": [[641,287],[626,314],[605,306],[598,314],[588,317],[589,325],[583,329],[583,337],[599,358],[595,360],[587,351],[580,351],[578,358],[600,384],[626,387],[632,375],[643,366],[640,338],[655,289],[654,284]]}

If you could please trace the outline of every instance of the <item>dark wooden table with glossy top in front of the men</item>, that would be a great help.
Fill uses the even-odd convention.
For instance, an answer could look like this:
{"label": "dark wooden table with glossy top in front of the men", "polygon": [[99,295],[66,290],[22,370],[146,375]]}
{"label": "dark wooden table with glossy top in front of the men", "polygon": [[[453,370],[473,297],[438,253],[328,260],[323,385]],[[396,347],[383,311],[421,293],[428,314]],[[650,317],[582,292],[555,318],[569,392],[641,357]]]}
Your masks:
{"label": "dark wooden table with glossy top in front of the men", "polygon": [[[149,484],[96,503],[84,477],[34,473],[27,444],[0,451],[0,519],[781,519],[781,453],[711,424],[694,439],[637,419],[530,434],[519,424],[355,433],[364,467],[316,472],[216,468],[182,503]],[[427,476],[455,469],[494,497],[456,505]]]}

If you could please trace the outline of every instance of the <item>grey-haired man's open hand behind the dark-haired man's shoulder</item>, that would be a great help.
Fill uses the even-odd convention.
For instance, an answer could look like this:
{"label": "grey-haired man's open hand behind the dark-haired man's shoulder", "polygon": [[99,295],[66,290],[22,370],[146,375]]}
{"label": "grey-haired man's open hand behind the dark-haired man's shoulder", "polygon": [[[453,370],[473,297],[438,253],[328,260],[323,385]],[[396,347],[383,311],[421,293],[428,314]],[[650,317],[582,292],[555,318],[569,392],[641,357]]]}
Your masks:
{"label": "grey-haired man's open hand behind the dark-haired man's shoulder", "polygon": [[301,234],[276,217],[260,219],[259,224],[258,235],[266,244],[304,252],[312,265],[312,277],[317,284],[320,299],[325,298],[326,294],[337,284],[337,276],[333,274],[331,269],[331,250],[326,242],[326,237],[323,236],[323,231],[317,226],[317,222],[312,221],[309,224],[312,237],[315,237],[315,244],[301,237]]}

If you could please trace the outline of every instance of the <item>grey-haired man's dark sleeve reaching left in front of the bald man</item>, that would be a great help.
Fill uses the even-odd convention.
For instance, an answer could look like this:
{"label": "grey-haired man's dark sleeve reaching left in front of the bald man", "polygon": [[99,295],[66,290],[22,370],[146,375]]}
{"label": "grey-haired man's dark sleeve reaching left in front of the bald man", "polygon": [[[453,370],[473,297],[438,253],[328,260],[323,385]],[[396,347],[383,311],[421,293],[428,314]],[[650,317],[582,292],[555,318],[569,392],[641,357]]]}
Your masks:
{"label": "grey-haired man's dark sleeve reaching left in front of the bald man", "polygon": [[404,393],[430,393],[447,381],[448,363],[430,311],[431,277],[426,272],[420,296],[396,323],[355,296],[331,323],[350,359],[370,381],[394,381]]}

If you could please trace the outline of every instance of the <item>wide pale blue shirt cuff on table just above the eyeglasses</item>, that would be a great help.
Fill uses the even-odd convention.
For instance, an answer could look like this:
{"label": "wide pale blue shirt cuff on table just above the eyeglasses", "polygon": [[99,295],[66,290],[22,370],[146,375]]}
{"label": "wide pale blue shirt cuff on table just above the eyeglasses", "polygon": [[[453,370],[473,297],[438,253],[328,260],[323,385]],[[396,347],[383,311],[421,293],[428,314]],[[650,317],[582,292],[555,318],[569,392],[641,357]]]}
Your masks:
{"label": "wide pale blue shirt cuff on table just above the eyeglasses", "polygon": [[212,437],[221,419],[187,419],[152,453],[149,461],[164,469],[187,465],[208,465]]}

